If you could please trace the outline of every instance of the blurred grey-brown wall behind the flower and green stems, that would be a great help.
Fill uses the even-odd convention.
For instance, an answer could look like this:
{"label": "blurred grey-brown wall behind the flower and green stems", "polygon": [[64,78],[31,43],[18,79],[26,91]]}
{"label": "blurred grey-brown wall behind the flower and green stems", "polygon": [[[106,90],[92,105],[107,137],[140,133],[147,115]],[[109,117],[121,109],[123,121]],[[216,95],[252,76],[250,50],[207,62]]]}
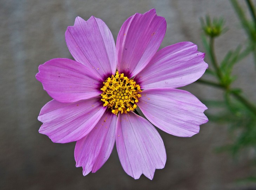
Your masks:
{"label": "blurred grey-brown wall behind the flower and green stems", "polygon": [[[240,1],[246,7],[244,1]],[[254,4],[256,2],[254,1]],[[122,169],[114,147],[95,174],[82,175],[75,167],[75,142],[53,143],[38,133],[40,109],[51,98],[35,79],[38,66],[56,57],[73,59],[65,42],[67,26],[76,16],[102,19],[116,39],[122,23],[136,12],[155,8],[167,21],[161,48],[191,41],[205,52],[200,17],[222,16],[228,31],[216,40],[217,59],[227,49],[245,43],[246,36],[229,1],[223,0],[0,0],[0,189],[175,189],[249,190],[256,183],[241,179],[255,175],[255,149],[232,156],[216,149],[232,141],[229,126],[209,121],[191,138],[178,138],[159,130],[167,162],[154,179],[134,180]],[[209,57],[206,55],[206,62]],[[234,67],[234,85],[256,102],[253,56]],[[207,78],[207,76],[204,76]],[[223,91],[194,83],[183,89],[200,100],[222,99]],[[217,112],[209,109],[206,114]]]}

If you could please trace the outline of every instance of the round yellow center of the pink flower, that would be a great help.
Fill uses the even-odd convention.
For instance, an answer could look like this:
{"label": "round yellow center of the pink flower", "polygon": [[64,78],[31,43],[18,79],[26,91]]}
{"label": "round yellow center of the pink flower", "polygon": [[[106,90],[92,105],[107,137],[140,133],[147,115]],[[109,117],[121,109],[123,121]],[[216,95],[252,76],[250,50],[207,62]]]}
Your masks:
{"label": "round yellow center of the pink flower", "polygon": [[104,102],[103,106],[108,106],[112,110],[112,113],[118,112],[127,113],[134,111],[137,107],[135,103],[141,97],[140,85],[136,84],[133,79],[124,77],[123,73],[119,74],[116,71],[115,76],[108,77],[104,86],[100,89],[103,92],[101,100]]}

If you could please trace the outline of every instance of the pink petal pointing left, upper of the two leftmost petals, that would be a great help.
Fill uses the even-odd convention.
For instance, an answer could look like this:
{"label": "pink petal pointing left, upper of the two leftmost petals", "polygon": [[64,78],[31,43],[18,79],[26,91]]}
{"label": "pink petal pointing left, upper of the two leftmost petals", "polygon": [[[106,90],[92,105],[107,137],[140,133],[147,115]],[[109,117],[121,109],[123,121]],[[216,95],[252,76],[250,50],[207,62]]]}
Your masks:
{"label": "pink petal pointing left, upper of the two leftmost petals", "polygon": [[36,79],[53,99],[60,102],[75,102],[101,93],[101,77],[92,68],[71,59],[47,61],[39,66]]}

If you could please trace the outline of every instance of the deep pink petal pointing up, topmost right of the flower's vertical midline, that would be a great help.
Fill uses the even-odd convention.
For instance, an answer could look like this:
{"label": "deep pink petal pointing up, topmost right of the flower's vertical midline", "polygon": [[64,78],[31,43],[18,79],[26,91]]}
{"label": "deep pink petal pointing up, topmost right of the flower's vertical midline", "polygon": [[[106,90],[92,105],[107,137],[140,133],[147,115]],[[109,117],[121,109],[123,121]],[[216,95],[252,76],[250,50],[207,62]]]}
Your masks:
{"label": "deep pink petal pointing up, topmost right of the flower's vertical midline", "polygon": [[155,9],[129,17],[116,40],[118,71],[127,77],[140,72],[160,47],[165,32],[166,20]]}

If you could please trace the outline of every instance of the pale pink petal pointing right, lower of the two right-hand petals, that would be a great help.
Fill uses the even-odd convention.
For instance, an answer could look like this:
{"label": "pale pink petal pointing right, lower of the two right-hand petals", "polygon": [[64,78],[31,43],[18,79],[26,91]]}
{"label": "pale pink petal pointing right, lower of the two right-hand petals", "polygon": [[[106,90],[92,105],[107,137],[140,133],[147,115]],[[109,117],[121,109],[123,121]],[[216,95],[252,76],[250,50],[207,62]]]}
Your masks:
{"label": "pale pink petal pointing right, lower of the two right-hand petals", "polygon": [[207,107],[193,94],[179,89],[143,90],[137,105],[147,119],[161,130],[182,137],[193,136],[208,121]]}

